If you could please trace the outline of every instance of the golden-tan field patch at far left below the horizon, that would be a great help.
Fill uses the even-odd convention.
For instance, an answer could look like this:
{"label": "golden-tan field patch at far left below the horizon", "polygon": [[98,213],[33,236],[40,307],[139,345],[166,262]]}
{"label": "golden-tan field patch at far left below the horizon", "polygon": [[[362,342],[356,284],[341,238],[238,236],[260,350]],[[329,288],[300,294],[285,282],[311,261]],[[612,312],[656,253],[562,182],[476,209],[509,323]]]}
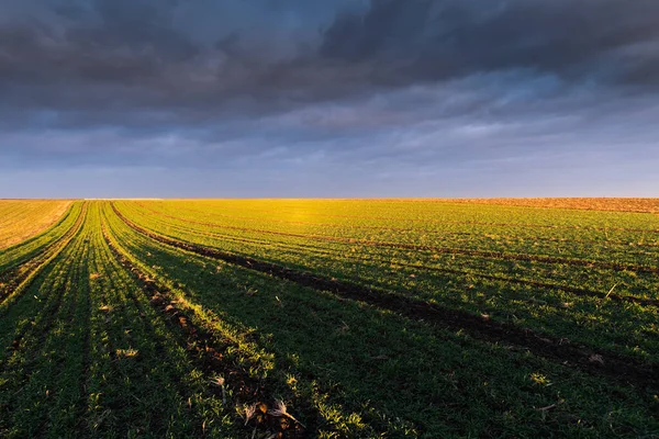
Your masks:
{"label": "golden-tan field patch at far left below the horizon", "polygon": [[0,200],[0,249],[45,230],[69,204],[70,201]]}

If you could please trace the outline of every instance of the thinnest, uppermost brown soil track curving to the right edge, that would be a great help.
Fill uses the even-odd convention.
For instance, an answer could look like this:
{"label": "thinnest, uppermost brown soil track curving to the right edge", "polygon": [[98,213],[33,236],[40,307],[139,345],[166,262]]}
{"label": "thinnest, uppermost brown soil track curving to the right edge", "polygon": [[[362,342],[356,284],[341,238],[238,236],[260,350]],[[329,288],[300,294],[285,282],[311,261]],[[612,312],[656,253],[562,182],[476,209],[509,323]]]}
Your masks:
{"label": "thinnest, uppermost brown soil track curving to the right edge", "polygon": [[[119,214],[119,210],[112,204],[113,210]],[[155,211],[154,211],[155,212]],[[157,213],[157,212],[155,212]],[[436,254],[444,255],[465,255],[465,256],[478,256],[481,258],[489,259],[500,259],[500,260],[513,260],[513,261],[535,261],[543,263],[558,263],[558,264],[568,264],[573,267],[587,267],[587,268],[599,268],[604,270],[614,270],[614,271],[636,271],[636,272],[649,272],[649,273],[658,273],[659,267],[649,267],[649,266],[639,266],[635,263],[617,263],[617,262],[606,262],[606,261],[592,261],[585,259],[573,259],[573,258],[557,258],[554,256],[545,256],[545,255],[526,255],[526,254],[505,254],[502,251],[493,251],[493,250],[472,250],[465,248],[453,248],[453,247],[435,247],[435,246],[422,246],[415,244],[401,244],[401,243],[383,243],[383,241],[375,241],[375,240],[362,240],[362,239],[354,239],[354,238],[340,238],[334,236],[323,236],[323,235],[305,235],[305,234],[295,234],[288,232],[273,232],[273,230],[265,230],[265,229],[256,229],[248,227],[238,227],[238,226],[219,226],[212,223],[203,223],[193,219],[183,219],[172,215],[166,215],[163,213],[158,213],[158,215],[163,217],[175,218],[189,224],[199,224],[205,226],[214,226],[216,228],[247,232],[247,233],[260,233],[267,235],[277,235],[277,236],[288,236],[294,238],[302,239],[313,239],[328,243],[342,243],[342,244],[356,244],[360,246],[371,246],[371,247],[382,247],[382,248],[393,248],[393,249],[403,249],[403,250],[418,250],[418,251],[434,251]]]}

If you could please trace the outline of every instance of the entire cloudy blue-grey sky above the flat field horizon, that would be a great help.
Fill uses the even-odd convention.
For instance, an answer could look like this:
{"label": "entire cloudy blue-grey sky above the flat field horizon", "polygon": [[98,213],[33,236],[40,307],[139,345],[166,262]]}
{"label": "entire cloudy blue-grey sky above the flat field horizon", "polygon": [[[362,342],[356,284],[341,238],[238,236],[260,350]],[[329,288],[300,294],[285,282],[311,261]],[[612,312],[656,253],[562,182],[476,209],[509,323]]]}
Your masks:
{"label": "entire cloudy blue-grey sky above the flat field horizon", "polygon": [[659,1],[0,2],[0,198],[308,196],[659,196]]}

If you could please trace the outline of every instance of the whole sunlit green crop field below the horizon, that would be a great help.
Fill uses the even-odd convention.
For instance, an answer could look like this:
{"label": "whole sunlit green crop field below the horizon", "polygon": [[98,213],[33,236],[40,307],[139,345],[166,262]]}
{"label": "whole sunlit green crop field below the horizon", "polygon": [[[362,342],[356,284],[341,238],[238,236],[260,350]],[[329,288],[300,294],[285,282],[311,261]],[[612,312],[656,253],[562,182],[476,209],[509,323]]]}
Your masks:
{"label": "whole sunlit green crop field below the horizon", "polygon": [[658,206],[1,202],[0,437],[659,438]]}

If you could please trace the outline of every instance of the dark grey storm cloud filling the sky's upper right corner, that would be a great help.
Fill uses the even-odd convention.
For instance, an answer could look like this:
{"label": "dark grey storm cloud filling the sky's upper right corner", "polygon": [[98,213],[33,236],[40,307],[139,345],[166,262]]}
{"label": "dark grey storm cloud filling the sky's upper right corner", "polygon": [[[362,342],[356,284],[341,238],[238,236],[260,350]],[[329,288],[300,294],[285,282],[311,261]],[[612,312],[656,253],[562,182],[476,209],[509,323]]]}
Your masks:
{"label": "dark grey storm cloud filling the sky's upper right corner", "polygon": [[375,64],[386,83],[528,68],[657,85],[658,24],[655,0],[383,0],[340,15],[321,53]]}

